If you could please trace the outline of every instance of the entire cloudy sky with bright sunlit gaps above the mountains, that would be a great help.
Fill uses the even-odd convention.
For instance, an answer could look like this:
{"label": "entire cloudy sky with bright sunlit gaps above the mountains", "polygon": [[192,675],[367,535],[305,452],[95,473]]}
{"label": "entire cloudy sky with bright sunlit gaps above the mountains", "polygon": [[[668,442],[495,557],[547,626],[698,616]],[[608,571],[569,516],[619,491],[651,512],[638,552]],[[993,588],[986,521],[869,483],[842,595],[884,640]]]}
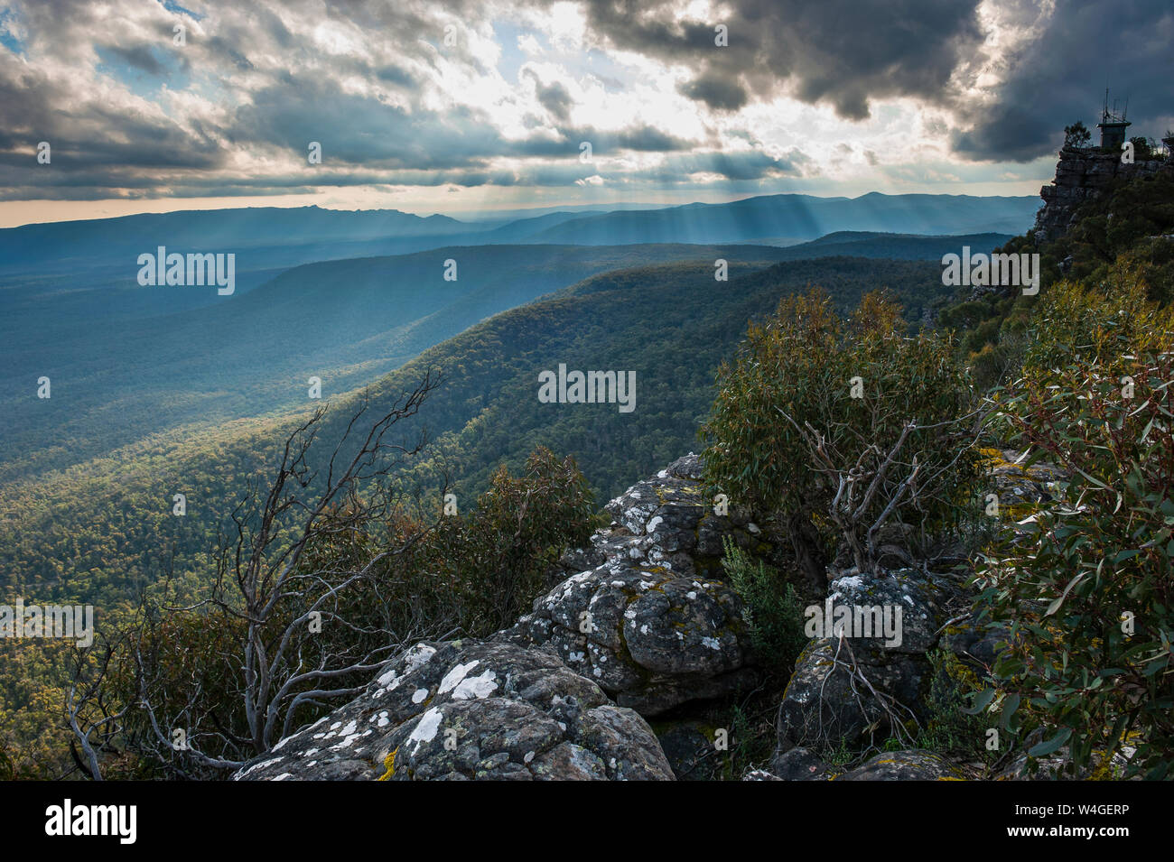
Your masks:
{"label": "entire cloudy sky with bright sunlit gaps above the mountains", "polygon": [[0,0],[0,226],[1034,195],[1106,84],[1174,127],[1172,45],[1169,0]]}

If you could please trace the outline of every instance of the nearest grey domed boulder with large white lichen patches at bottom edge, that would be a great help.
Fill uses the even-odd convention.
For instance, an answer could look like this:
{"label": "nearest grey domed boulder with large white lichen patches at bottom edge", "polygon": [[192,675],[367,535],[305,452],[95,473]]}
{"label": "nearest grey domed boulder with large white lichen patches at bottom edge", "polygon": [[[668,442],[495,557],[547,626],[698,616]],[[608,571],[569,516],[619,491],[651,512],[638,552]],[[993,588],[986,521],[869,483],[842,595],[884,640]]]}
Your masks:
{"label": "nearest grey domed boulder with large white lichen patches at bottom edge", "polygon": [[421,643],[237,780],[673,780],[645,720],[556,656]]}

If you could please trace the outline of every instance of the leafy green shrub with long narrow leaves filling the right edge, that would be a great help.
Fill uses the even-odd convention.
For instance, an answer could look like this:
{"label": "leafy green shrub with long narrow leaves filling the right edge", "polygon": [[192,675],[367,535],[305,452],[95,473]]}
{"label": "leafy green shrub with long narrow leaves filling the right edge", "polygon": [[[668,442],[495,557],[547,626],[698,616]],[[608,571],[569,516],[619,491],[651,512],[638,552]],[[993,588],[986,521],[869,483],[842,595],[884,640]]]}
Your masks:
{"label": "leafy green shrub with long narrow leaves filling the right edge", "polygon": [[[1126,273],[1127,274],[1127,273]],[[1058,500],[991,549],[980,606],[1010,630],[994,671],[1034,758],[1066,768],[1174,751],[1174,321],[1133,293],[1060,286],[1024,378],[998,401],[1020,446],[1067,471]],[[1132,385],[1132,392],[1129,386]],[[1132,627],[1132,631],[1129,629]],[[983,695],[987,703],[992,692]]]}

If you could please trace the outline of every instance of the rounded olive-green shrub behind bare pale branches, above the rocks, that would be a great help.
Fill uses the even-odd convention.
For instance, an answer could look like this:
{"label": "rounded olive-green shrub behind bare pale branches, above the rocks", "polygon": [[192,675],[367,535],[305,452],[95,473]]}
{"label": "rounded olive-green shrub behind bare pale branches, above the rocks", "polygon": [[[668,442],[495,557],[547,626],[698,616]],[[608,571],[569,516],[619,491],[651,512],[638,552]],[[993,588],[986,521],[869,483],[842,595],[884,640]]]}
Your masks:
{"label": "rounded olive-green shrub behind bare pale branches, above the rocks", "polygon": [[[913,459],[920,466],[916,511],[899,513],[915,527],[932,531],[956,523],[976,477],[977,457],[947,425],[974,398],[956,346],[945,332],[908,338],[904,331],[899,306],[879,293],[865,296],[846,321],[822,291],[785,297],[772,318],[749,327],[737,357],[718,369],[717,396],[701,432],[707,480],[738,504],[783,515],[799,564],[816,583],[823,577],[821,554],[843,530],[824,521],[821,531],[812,521],[828,518],[837,477],[812,459],[805,426],[822,435],[844,473],[855,464],[866,475],[906,422],[916,421],[899,457],[902,475]],[[853,398],[855,378],[863,398]],[[925,481],[931,476],[933,482]],[[888,502],[875,495],[855,521],[871,524]]]}

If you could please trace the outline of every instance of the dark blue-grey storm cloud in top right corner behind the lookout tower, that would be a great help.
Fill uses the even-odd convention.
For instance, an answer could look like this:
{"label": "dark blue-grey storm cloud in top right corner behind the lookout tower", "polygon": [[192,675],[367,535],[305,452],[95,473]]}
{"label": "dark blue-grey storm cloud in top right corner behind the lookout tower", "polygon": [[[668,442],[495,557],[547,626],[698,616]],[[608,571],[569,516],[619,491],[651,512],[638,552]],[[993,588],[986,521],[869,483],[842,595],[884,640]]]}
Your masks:
{"label": "dark blue-grey storm cloud in top right corner behind the lookout tower", "polygon": [[1169,0],[1060,0],[1046,29],[1012,63],[997,104],[962,106],[953,148],[976,161],[1030,161],[1062,142],[1064,127],[1100,121],[1105,87],[1129,100],[1131,135],[1160,137],[1174,117],[1174,7]]}

